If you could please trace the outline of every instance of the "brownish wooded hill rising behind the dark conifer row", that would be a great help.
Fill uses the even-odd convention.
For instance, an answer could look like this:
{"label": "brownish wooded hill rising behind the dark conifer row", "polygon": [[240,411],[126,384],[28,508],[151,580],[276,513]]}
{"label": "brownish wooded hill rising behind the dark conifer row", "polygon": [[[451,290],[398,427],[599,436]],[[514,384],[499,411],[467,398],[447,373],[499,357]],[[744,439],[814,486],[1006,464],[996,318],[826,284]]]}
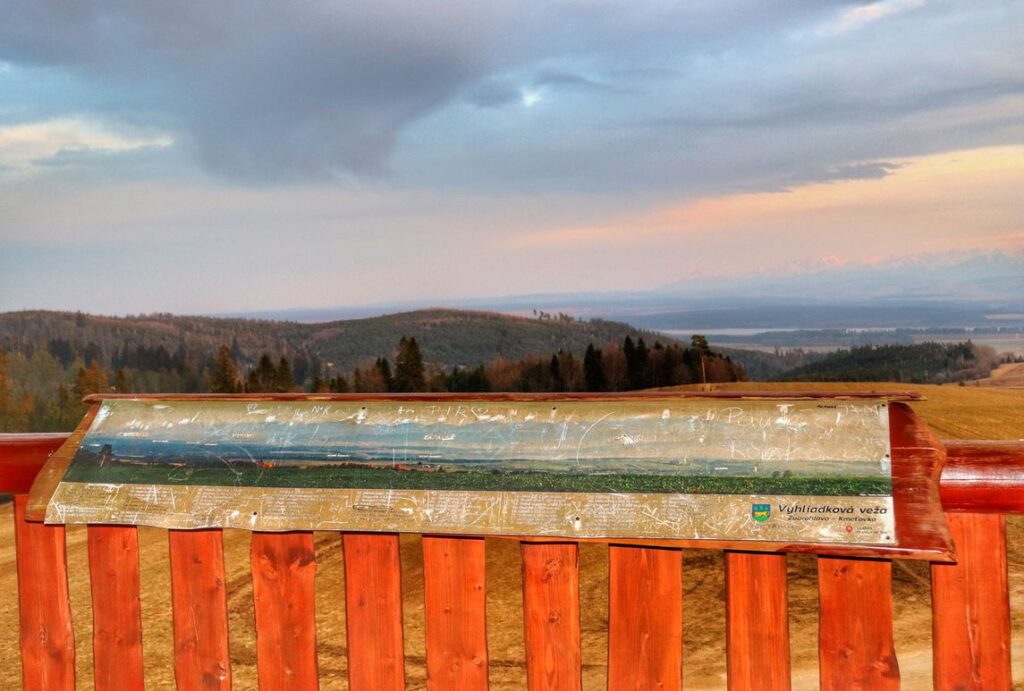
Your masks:
{"label": "brownish wooded hill rising behind the dark conifer row", "polygon": [[[349,371],[367,358],[394,351],[402,337],[416,338],[425,361],[474,366],[497,357],[518,359],[559,349],[583,354],[591,343],[622,343],[630,336],[647,343],[676,343],[617,321],[580,321],[541,313],[520,317],[493,312],[425,309],[365,319],[322,323],[266,321],[152,314],[110,317],[75,312],[0,313],[0,348],[7,352],[48,348],[61,360],[81,357],[102,366],[128,365],[122,353],[160,358],[187,353],[206,358],[221,344],[231,347],[240,366],[254,364],[261,353],[288,356],[299,366],[309,359]],[[154,352],[150,352],[150,351]],[[158,363],[159,364],[159,363]],[[152,369],[152,368],[145,368]]]}

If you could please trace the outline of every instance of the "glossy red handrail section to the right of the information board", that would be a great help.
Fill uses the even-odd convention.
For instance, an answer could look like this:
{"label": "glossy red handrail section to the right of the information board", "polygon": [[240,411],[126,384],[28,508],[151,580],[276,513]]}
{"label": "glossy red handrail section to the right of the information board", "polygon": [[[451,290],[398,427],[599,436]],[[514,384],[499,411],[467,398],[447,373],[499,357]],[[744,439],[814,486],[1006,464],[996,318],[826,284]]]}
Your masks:
{"label": "glossy red handrail section to the right of the information board", "polygon": [[1024,513],[1024,441],[944,444],[939,491],[945,511]]}

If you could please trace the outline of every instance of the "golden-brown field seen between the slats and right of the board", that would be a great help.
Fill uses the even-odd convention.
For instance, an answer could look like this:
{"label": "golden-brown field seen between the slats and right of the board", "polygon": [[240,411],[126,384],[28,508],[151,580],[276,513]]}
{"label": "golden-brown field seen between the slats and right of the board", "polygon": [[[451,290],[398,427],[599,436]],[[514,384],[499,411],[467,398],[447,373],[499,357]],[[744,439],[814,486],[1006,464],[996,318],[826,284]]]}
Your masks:
{"label": "golden-brown field seen between the slats and right of the board", "polygon": [[[750,389],[754,385],[736,388]],[[762,388],[758,385],[758,388]],[[806,385],[766,385],[772,389],[806,389]],[[913,403],[918,413],[943,438],[1024,438],[1024,390],[997,387],[838,385],[829,388],[870,390],[910,389],[928,400]],[[17,664],[16,579],[10,508],[0,507],[0,689],[20,688]],[[142,614],[147,689],[174,688],[171,645],[170,584],[167,538],[162,530],[141,530]],[[317,632],[322,688],[346,689],[344,577],[341,541],[317,533]],[[255,689],[255,633],[249,577],[249,533],[225,533],[231,657],[236,689]],[[487,541],[487,616],[492,689],[525,688],[522,607],[518,545],[510,539]],[[607,659],[607,550],[581,547],[584,687],[604,689]],[[1010,519],[1011,601],[1015,674],[1024,678],[1024,522]],[[72,606],[78,645],[79,688],[91,689],[91,610],[85,531],[69,530],[68,558]],[[423,562],[420,541],[401,541],[404,590],[407,674],[410,689],[425,684],[423,640]],[[790,612],[794,681],[797,689],[817,688],[817,594],[814,560],[791,557]],[[903,688],[931,688],[931,610],[928,567],[897,562],[893,569],[896,643]],[[688,551],[683,566],[684,658],[687,688],[724,688],[725,606],[722,556]],[[1024,688],[1024,686],[1018,686]]]}

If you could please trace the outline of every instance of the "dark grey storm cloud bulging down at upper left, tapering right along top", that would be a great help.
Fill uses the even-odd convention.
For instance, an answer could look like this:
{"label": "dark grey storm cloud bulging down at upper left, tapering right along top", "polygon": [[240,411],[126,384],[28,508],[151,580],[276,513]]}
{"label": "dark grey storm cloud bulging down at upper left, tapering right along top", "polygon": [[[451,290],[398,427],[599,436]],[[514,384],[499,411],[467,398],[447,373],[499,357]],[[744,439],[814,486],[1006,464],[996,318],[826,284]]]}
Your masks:
{"label": "dark grey storm cloud bulging down at upper left, tapering right along top", "polygon": [[[708,45],[822,7],[8,0],[0,60],[86,85],[37,97],[33,113],[145,121],[222,175],[290,181],[377,172],[411,123],[457,94],[484,107],[520,98],[500,75],[538,59]],[[535,86],[607,86],[556,67],[532,73]]]}

